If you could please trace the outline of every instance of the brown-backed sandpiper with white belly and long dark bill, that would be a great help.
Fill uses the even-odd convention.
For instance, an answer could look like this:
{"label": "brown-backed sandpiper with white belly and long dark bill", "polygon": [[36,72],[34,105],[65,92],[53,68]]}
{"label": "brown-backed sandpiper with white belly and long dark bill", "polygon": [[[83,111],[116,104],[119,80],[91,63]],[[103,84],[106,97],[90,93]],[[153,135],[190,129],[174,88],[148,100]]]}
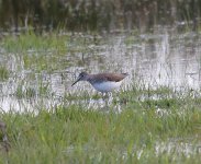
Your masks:
{"label": "brown-backed sandpiper with white belly and long dark bill", "polygon": [[81,72],[72,85],[79,81],[88,81],[97,91],[107,93],[119,89],[125,77],[127,77],[127,73],[89,74],[87,72]]}

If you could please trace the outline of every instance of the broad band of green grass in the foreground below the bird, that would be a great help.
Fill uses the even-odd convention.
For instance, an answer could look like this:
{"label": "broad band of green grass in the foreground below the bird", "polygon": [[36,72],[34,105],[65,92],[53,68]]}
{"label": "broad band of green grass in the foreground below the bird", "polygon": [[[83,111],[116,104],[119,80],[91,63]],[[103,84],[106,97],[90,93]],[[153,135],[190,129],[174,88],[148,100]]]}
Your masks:
{"label": "broad band of green grass in the foreground below the bird", "polygon": [[158,117],[153,107],[146,109],[134,105],[126,105],[121,114],[69,105],[51,112],[42,108],[37,115],[2,115],[11,149],[7,155],[1,155],[1,162],[188,163],[191,160],[198,163],[200,160],[199,152],[187,157],[177,150],[171,153],[164,150],[156,154],[155,148],[158,142],[168,142],[168,139],[181,139],[199,147],[201,110],[196,106],[181,110],[172,105],[171,114],[164,117]]}

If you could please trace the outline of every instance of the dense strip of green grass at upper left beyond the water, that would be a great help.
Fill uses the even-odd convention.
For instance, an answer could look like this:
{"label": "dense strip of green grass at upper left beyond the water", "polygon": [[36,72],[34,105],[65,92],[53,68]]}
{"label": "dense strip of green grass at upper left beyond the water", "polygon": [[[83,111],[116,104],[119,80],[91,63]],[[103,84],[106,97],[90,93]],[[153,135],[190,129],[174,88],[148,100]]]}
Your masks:
{"label": "dense strip of green grass at upper left beyond the water", "polygon": [[36,35],[33,31],[29,31],[19,36],[5,36],[3,38],[3,48],[8,52],[64,50],[68,39],[69,37],[66,35],[53,34],[47,36],[44,34],[41,36]]}

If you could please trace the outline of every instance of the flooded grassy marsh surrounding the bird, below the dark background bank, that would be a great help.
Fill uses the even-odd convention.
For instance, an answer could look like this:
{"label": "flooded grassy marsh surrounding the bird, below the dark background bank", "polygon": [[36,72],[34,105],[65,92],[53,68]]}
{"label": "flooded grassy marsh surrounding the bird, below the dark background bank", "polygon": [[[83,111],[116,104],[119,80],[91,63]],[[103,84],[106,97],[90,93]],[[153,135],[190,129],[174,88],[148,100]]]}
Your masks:
{"label": "flooded grassy marsh surrounding the bird, below the dark background bank", "polygon": [[[200,163],[200,32],[159,26],[4,34],[0,163]],[[105,102],[70,86],[82,70],[130,75]]]}

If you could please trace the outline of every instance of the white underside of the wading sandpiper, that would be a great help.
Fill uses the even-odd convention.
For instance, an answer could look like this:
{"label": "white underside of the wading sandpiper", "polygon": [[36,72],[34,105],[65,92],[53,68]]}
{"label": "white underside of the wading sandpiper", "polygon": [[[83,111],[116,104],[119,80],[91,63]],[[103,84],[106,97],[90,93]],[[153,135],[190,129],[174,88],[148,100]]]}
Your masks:
{"label": "white underside of the wading sandpiper", "polygon": [[119,89],[121,83],[122,83],[122,81],[120,81],[120,82],[101,82],[101,83],[93,84],[93,87],[100,92],[111,92],[115,89]]}

